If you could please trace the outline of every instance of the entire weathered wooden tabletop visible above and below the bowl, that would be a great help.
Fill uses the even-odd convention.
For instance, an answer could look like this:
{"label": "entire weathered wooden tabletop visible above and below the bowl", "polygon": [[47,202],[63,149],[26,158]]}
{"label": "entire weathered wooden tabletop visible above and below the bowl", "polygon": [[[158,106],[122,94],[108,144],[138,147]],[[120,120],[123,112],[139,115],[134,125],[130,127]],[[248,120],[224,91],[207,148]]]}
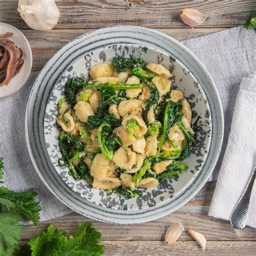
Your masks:
{"label": "entire weathered wooden tabletop visible above and below the bowl", "polygon": [[[153,28],[176,39],[206,35],[226,28],[244,24],[251,12],[255,12],[255,1],[56,1],[60,10],[59,24],[49,32],[29,29],[19,16],[16,0],[0,0],[0,22],[21,29],[33,52],[33,71],[40,70],[60,47],[71,39],[111,25],[139,25]],[[179,18],[183,8],[194,8],[211,16],[197,28],[188,28]],[[172,246],[164,244],[166,228],[180,221],[186,228],[203,233],[207,239],[205,254],[255,255],[256,230],[246,227],[235,230],[228,221],[208,217],[215,182],[207,183],[189,203],[178,211],[136,226],[110,225],[93,221],[77,213],[44,221],[38,226],[26,226],[22,243],[41,234],[49,224],[75,232],[80,223],[91,221],[102,232],[106,255],[171,255],[200,254],[201,249],[190,235],[183,232]]]}

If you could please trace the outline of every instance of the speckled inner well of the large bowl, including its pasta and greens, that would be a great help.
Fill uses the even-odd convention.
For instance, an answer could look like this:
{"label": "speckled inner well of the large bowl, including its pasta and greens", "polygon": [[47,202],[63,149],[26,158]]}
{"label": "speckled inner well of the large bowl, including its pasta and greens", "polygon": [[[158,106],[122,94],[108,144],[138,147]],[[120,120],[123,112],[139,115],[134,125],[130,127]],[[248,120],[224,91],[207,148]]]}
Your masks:
{"label": "speckled inner well of the large bowl, including its pasta and greens", "polygon": [[62,73],[44,136],[53,169],[71,190],[111,210],[136,211],[172,200],[196,179],[211,115],[197,79],[178,60],[146,46],[113,45]]}

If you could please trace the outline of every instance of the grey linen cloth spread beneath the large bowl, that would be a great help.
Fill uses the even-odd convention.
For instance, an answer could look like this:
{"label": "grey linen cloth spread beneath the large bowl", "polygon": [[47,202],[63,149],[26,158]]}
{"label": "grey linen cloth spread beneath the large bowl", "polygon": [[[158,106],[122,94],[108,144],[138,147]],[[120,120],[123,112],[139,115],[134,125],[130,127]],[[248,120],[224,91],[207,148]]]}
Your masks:
{"label": "grey linen cloth spread beneath the large bowl", "polygon": [[[235,99],[242,77],[255,68],[255,31],[242,27],[188,39],[182,43],[192,50],[211,73],[224,109],[225,135],[220,159],[210,177],[216,180],[231,127]],[[37,73],[32,73],[21,90],[0,99],[0,156],[4,157],[4,185],[15,191],[35,188],[41,202],[41,221],[70,213],[44,186],[31,163],[25,139],[25,109]]]}

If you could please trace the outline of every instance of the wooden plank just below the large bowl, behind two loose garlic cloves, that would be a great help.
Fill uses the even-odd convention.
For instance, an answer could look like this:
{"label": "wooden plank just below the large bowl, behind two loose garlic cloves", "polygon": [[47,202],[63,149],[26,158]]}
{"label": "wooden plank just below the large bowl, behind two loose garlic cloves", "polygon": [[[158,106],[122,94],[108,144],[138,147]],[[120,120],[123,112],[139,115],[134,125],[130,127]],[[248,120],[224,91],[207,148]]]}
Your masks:
{"label": "wooden plank just below the large bowl, behind two loose garlic cloves", "polygon": [[[186,205],[178,211],[150,223],[126,226],[99,223],[77,213],[71,213],[60,218],[44,221],[38,226],[25,226],[22,232],[22,240],[28,240],[35,235],[42,234],[51,223],[66,230],[68,234],[73,234],[80,223],[92,222],[93,227],[96,227],[102,233],[103,241],[163,241],[167,227],[180,221],[186,230],[192,228],[199,231],[205,235],[208,241],[256,241],[255,229],[246,227],[243,230],[235,230],[228,221],[208,217],[208,209],[208,206]],[[192,240],[192,238],[186,232],[183,232],[179,240]]]}

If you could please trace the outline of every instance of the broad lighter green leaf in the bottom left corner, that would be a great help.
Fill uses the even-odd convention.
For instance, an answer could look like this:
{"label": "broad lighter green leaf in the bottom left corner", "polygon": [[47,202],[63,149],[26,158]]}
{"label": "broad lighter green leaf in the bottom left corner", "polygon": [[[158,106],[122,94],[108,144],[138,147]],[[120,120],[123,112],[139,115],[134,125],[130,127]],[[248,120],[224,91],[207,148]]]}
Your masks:
{"label": "broad lighter green leaf in the bottom left corner", "polygon": [[12,255],[21,232],[23,230],[22,225],[18,225],[18,221],[21,220],[21,216],[17,212],[0,213],[0,254]]}

